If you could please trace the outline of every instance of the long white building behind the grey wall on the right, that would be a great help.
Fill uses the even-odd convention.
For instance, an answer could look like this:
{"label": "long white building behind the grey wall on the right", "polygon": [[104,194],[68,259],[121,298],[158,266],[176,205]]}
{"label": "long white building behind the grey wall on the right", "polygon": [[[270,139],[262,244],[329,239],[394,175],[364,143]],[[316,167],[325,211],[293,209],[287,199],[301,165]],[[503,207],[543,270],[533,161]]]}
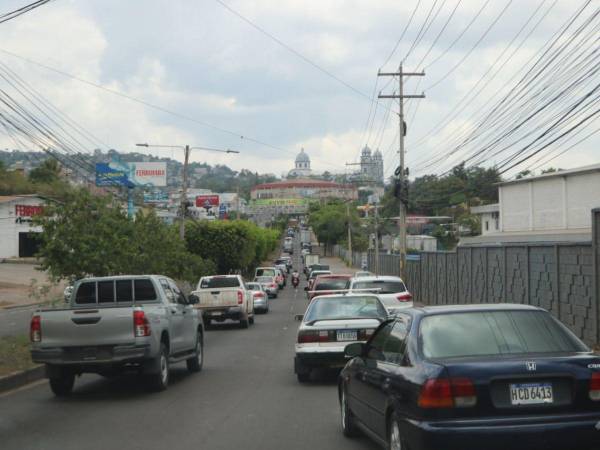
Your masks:
{"label": "long white building behind the grey wall on the right", "polygon": [[[589,241],[591,210],[600,207],[600,164],[505,181],[498,185],[498,198],[498,230],[483,229],[481,236],[461,239],[461,245]],[[483,225],[489,212],[480,208]]]}

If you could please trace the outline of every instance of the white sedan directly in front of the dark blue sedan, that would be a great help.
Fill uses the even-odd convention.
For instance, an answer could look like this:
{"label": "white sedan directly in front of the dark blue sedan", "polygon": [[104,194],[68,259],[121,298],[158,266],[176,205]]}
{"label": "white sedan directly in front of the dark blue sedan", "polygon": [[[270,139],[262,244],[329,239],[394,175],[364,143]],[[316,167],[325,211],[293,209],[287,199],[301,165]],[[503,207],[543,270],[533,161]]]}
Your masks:
{"label": "white sedan directly in front of the dark blue sedan", "polygon": [[343,367],[349,342],[366,341],[387,312],[376,295],[324,295],[315,298],[302,320],[296,339],[294,372],[301,383],[315,368]]}

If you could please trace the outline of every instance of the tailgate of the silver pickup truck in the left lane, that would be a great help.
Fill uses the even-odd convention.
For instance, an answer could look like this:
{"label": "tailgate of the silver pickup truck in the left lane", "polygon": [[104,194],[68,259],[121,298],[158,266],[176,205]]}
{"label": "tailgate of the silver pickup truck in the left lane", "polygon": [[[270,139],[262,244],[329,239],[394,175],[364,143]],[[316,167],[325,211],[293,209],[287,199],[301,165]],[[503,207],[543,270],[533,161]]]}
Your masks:
{"label": "tailgate of the silver pickup truck in the left lane", "polygon": [[135,343],[131,306],[46,310],[41,328],[43,347]]}

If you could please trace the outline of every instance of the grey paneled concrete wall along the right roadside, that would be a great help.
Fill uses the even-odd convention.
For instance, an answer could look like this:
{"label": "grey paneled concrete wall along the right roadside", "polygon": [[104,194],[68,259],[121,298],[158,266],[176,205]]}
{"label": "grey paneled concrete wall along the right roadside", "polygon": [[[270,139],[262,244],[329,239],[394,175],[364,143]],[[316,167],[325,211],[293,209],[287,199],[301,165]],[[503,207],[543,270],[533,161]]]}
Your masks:
{"label": "grey paneled concrete wall along the right roadside", "polygon": [[[588,211],[589,214],[589,211]],[[592,242],[459,247],[408,261],[404,280],[428,305],[524,303],[550,311],[589,345],[600,343],[600,208]],[[341,255],[343,256],[343,255]],[[379,273],[399,275],[399,257],[380,255]],[[369,270],[375,258],[369,255]]]}

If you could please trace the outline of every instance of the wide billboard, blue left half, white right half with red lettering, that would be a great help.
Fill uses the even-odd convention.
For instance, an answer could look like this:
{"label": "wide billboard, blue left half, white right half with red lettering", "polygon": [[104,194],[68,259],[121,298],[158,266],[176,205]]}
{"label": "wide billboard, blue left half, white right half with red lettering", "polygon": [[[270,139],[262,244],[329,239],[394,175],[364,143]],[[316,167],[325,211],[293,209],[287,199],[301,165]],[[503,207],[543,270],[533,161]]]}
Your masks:
{"label": "wide billboard, blue left half, white right half with red lettering", "polygon": [[96,163],[96,186],[166,186],[166,162]]}

